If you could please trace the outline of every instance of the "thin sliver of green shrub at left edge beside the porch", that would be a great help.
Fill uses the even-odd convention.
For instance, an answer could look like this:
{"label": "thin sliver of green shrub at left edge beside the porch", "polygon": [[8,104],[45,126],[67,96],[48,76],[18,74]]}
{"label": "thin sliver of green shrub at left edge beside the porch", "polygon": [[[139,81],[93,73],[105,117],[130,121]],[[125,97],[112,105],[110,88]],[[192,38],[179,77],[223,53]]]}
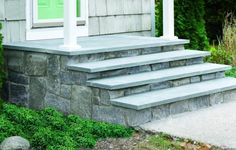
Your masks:
{"label": "thin sliver of green shrub at left edge beside the porch", "polygon": [[[0,30],[1,29],[2,29],[2,25],[0,23]],[[3,64],[4,60],[3,60],[2,39],[3,39],[3,36],[0,33],[0,91],[1,91],[1,88],[2,88],[2,84],[3,84],[3,79],[5,77],[5,74],[4,74],[4,64]]]}

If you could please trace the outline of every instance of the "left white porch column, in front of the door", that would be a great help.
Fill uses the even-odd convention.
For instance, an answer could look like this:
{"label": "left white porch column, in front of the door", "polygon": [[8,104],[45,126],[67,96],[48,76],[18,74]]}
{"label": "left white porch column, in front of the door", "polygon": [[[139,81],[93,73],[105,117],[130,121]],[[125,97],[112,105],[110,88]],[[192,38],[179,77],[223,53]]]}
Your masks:
{"label": "left white porch column, in front of the door", "polygon": [[76,0],[64,0],[64,45],[68,49],[80,48],[77,44]]}

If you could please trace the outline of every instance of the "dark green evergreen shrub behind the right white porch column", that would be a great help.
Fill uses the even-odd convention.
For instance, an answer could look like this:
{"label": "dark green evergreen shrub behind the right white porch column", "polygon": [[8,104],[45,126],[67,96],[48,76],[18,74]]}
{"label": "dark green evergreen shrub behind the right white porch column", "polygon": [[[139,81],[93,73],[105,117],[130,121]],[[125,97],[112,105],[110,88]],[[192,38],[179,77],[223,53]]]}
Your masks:
{"label": "dark green evergreen shrub behind the right white porch column", "polygon": [[[156,0],[157,36],[162,35],[162,0]],[[209,42],[204,22],[204,0],[175,0],[175,34],[189,39],[187,46],[192,49],[208,49]]]}

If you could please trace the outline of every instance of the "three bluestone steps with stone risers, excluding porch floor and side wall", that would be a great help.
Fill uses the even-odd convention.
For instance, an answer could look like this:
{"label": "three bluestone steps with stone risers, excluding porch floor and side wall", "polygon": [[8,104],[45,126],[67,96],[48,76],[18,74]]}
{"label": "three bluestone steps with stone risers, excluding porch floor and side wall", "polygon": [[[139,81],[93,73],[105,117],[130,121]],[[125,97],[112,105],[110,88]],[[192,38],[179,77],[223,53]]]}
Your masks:
{"label": "three bluestone steps with stone risers, excluding porch floor and side wall", "polygon": [[232,100],[236,79],[224,75],[231,67],[204,63],[210,53],[185,50],[186,43],[117,49],[93,61],[72,59],[67,67],[92,88],[96,120],[138,126]]}

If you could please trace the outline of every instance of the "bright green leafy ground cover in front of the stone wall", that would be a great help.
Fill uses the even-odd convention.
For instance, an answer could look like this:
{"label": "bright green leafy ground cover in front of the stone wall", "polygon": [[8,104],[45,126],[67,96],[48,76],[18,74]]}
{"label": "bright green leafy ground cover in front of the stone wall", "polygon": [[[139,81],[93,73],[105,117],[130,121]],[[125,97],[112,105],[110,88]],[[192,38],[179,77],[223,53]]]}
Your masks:
{"label": "bright green leafy ground cover in front of the stone wall", "polygon": [[133,133],[131,128],[65,116],[51,108],[35,111],[3,103],[0,111],[0,141],[18,135],[28,139],[34,149],[93,148],[101,138],[130,137]]}

